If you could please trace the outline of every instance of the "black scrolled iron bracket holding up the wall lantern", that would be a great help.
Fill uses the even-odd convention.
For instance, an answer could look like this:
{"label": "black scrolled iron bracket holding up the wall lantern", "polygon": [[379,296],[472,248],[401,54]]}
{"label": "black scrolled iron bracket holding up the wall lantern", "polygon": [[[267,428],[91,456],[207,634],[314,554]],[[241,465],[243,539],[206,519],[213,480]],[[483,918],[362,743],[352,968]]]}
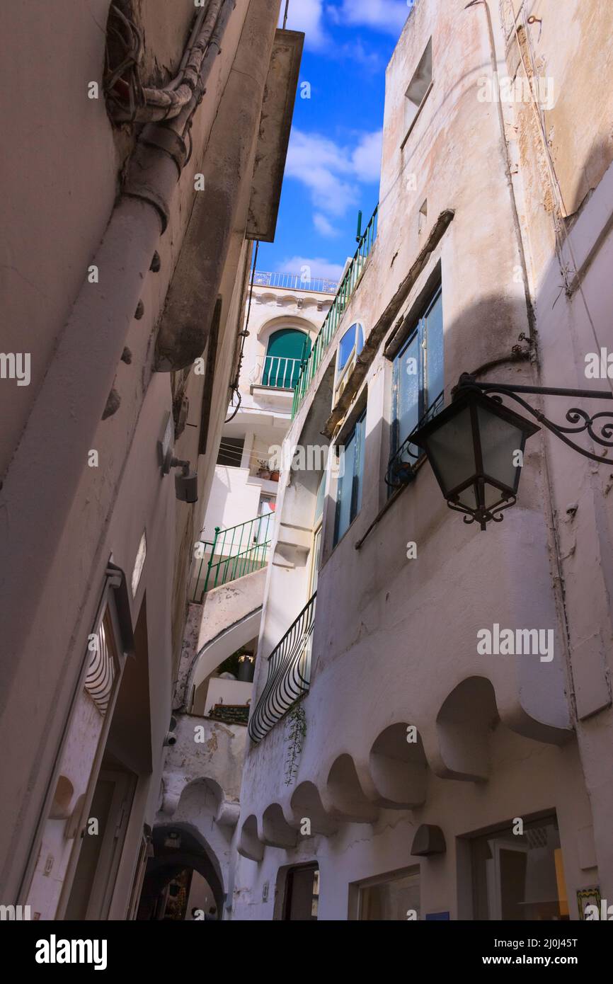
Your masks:
{"label": "black scrolled iron bracket holding up the wall lantern", "polygon": [[[542,397],[579,397],[582,400],[613,400],[613,392],[610,390],[568,390],[561,387],[549,386],[510,386],[506,383],[479,383],[469,373],[462,373],[458,386],[452,391],[452,397],[456,399],[460,396],[460,393],[465,393],[466,390],[470,389],[478,390],[480,393],[491,397],[497,403],[502,403],[503,397],[509,397],[511,400],[515,400],[535,420],[538,420],[539,424],[542,424],[543,427],[546,427],[547,430],[555,434],[561,441],[564,441],[569,448],[578,451],[583,458],[589,458],[591,461],[600,461],[604,464],[613,463],[613,458],[594,455],[593,452],[582,448],[581,445],[576,444],[575,441],[572,441],[567,436],[569,434],[582,434],[586,431],[591,440],[596,444],[599,444],[603,448],[613,448],[613,411],[607,412],[601,410],[599,413],[593,413],[590,416],[589,413],[582,410],[579,406],[572,406],[567,410],[566,420],[573,426],[565,427],[563,424],[557,424],[553,420],[550,420],[544,413],[530,406],[528,402],[519,396],[519,394],[525,393]],[[509,505],[512,504],[510,503]]]}

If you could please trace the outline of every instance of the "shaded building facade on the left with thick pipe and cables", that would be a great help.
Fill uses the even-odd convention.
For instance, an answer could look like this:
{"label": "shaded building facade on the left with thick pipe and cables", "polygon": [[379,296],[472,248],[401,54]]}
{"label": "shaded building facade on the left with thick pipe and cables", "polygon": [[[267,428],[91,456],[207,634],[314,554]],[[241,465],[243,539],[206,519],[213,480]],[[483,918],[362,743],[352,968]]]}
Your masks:
{"label": "shaded building facade on the left with thick pipe and cables", "polygon": [[134,918],[158,850],[193,546],[297,84],[279,8],[0,15],[0,897],[32,918]]}

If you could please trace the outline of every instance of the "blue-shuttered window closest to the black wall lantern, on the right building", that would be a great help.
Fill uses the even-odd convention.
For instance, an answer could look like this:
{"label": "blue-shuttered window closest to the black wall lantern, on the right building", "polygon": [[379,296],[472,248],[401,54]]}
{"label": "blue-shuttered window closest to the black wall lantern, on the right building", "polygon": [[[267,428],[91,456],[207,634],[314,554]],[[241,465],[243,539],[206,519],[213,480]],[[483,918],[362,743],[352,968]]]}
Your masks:
{"label": "blue-shuttered window closest to the black wall lantern, on the right building", "polygon": [[407,439],[422,419],[443,406],[443,292],[428,298],[394,360],[392,447],[388,484],[402,484],[420,455]]}

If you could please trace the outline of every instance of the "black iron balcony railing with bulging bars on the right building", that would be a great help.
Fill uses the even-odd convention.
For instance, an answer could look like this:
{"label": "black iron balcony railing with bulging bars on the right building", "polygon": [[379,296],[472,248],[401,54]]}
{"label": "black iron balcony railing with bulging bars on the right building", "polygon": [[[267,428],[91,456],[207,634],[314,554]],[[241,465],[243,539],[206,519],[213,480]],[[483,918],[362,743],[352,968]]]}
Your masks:
{"label": "black iron balcony railing with bulging bars on the right building", "polygon": [[252,742],[262,741],[276,722],[309,690],[311,637],[317,591],[269,656],[269,675],[247,728]]}

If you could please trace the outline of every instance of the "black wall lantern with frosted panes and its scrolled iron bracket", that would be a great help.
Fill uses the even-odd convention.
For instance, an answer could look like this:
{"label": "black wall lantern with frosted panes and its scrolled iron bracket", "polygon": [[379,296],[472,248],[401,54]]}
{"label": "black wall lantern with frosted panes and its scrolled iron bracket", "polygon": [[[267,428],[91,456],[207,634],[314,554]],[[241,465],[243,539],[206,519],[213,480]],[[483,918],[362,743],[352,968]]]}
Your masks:
{"label": "black wall lantern with frosted panes and its scrolled iron bracket", "polygon": [[503,520],[500,514],[516,502],[525,442],[539,430],[536,424],[505,406],[503,397],[520,403],[539,424],[584,458],[611,464],[610,458],[594,455],[568,435],[586,431],[596,444],[613,448],[613,413],[589,416],[574,406],[566,414],[572,426],[566,427],[530,406],[520,393],[613,400],[613,393],[607,390],[477,383],[474,376],[462,373],[452,391],[451,406],[423,427],[417,427],[411,443],[425,451],[447,505],[465,514],[464,523],[479,523],[481,529],[486,529],[487,523]]}

